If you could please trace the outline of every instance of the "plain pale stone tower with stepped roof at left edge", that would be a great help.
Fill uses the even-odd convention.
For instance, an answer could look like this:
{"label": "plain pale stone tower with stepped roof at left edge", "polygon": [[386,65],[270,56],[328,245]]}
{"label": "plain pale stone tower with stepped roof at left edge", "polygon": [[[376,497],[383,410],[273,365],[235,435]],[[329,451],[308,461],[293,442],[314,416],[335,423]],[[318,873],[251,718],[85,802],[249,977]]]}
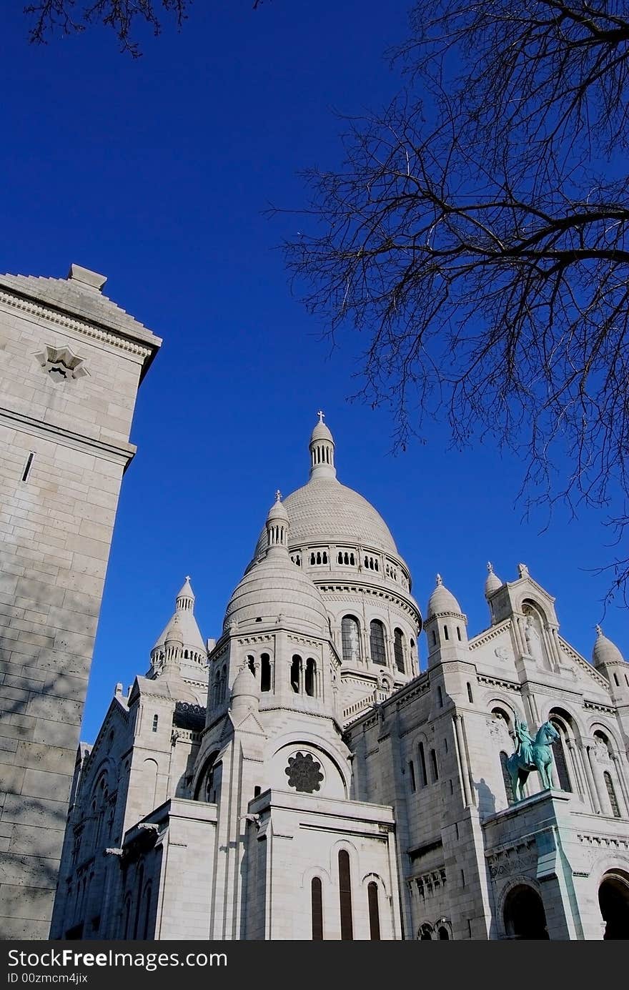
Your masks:
{"label": "plain pale stone tower with stepped roof at left edge", "polygon": [[138,385],[160,341],[73,264],[0,276],[0,932],[46,939]]}

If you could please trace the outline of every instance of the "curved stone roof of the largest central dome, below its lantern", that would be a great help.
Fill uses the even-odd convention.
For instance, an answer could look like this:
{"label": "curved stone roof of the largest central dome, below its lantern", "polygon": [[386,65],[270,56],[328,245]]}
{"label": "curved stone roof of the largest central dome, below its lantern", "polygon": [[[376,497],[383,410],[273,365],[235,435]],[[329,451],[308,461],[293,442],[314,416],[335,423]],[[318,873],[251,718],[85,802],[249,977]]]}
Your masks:
{"label": "curved stone roof of the largest central dome, below its lantern", "polygon": [[[315,427],[316,429],[316,427]],[[289,545],[349,543],[373,546],[397,556],[389,529],[367,499],[336,478],[311,478],[284,500],[290,520]],[[266,548],[266,531],[256,557]]]}

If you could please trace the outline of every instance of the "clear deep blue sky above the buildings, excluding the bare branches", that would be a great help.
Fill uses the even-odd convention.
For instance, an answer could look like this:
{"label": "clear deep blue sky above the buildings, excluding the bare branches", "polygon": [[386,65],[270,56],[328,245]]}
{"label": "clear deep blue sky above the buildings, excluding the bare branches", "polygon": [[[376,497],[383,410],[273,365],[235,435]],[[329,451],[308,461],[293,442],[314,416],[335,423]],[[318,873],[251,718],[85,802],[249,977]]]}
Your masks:
{"label": "clear deep blue sky above the buildings, excluding the bare branches", "polygon": [[[589,657],[613,557],[604,512],[522,519],[521,464],[492,446],[460,453],[435,424],[391,454],[386,409],[347,401],[362,341],[330,348],[291,295],[281,252],[298,230],[269,203],[305,201],[300,169],[341,160],[335,111],[386,103],[399,78],[382,56],[404,35],[408,0],[197,3],[180,34],[119,53],[101,29],[27,43],[4,13],[0,268],[108,276],[111,298],[163,338],[143,383],[103,597],[82,738],[114,685],[148,667],[185,574],[205,636],[253,553],[277,487],[308,476],[323,408],[340,479],[383,515],[425,608],[440,571],[470,620],[488,624],[485,562],[503,579],[524,561],[557,596],[561,632]],[[605,633],[624,651],[626,611]],[[425,646],[422,643],[422,658]]]}

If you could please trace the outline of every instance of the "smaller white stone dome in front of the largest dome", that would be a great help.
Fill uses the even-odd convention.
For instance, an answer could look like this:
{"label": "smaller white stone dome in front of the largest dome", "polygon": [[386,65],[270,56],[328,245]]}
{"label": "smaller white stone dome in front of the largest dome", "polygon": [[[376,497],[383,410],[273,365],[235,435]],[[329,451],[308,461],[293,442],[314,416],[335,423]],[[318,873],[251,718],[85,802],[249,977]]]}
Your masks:
{"label": "smaller white stone dome in front of the largest dome", "polygon": [[[225,612],[224,628],[238,623],[238,631],[255,632],[261,623],[282,624],[297,632],[328,636],[328,614],[318,589],[286,550],[268,556],[247,571]],[[257,622],[260,620],[260,622]]]}

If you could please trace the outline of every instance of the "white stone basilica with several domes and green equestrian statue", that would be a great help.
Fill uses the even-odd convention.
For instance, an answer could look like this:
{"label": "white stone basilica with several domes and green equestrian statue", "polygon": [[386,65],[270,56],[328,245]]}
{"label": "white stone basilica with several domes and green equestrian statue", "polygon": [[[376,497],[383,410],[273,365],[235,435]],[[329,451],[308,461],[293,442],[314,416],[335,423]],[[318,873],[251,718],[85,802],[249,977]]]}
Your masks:
{"label": "white stone basilica with several domes and green equestrian statue", "polygon": [[485,629],[439,575],[422,618],[322,415],[309,454],[218,639],[186,578],[80,744],[51,938],[629,938],[619,649],[567,643],[523,563]]}

